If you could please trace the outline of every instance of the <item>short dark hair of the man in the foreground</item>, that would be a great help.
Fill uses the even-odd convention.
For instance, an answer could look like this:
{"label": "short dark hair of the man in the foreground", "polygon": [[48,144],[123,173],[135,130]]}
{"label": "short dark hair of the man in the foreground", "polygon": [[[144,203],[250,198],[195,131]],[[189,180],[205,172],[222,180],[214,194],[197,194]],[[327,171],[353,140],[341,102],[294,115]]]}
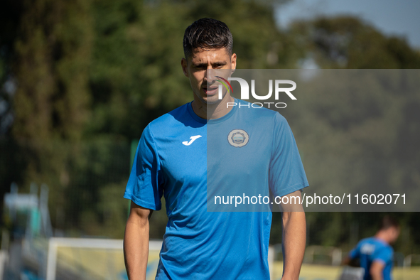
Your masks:
{"label": "short dark hair of the man in the foreground", "polygon": [[213,18],[200,18],[185,29],[184,55],[189,58],[194,48],[226,48],[232,55],[233,37],[226,23]]}

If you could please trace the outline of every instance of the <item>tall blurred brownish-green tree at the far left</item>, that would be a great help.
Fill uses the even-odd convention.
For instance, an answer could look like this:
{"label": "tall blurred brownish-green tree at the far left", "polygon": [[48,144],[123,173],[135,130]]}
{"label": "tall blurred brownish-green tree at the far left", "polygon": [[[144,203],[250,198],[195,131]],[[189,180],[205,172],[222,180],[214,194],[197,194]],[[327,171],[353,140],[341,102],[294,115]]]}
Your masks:
{"label": "tall blurred brownish-green tree at the far left", "polygon": [[82,139],[90,104],[90,2],[39,0],[17,6],[9,75],[17,85],[11,139],[21,163],[9,168],[23,169],[18,178],[23,190],[32,181],[47,183],[50,205],[60,208],[62,188],[70,183],[68,143]]}

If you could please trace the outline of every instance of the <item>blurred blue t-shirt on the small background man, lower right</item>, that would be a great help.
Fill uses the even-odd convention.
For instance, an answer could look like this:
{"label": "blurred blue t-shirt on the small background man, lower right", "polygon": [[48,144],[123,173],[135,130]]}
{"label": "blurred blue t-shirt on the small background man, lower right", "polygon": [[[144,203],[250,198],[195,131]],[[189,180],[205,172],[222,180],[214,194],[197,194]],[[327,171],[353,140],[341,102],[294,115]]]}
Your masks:
{"label": "blurred blue t-shirt on the small background man, lower right", "polygon": [[392,279],[391,270],[394,260],[394,249],[381,239],[369,237],[360,240],[350,252],[350,258],[360,259],[360,267],[365,269],[364,280],[372,279],[369,273],[372,262],[382,262],[385,265],[383,270],[384,280]]}

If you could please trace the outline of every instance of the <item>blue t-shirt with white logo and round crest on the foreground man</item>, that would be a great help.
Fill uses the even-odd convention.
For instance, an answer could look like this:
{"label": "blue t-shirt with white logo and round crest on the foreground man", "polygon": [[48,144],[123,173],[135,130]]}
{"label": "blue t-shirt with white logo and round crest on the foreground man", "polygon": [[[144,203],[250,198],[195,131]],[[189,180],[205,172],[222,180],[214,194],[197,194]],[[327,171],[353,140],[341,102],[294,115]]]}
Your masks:
{"label": "blue t-shirt with white logo and round crest on the foreground man", "polygon": [[[217,155],[240,156],[240,168],[208,156],[215,147]],[[188,103],[155,119],[141,135],[124,198],[160,210],[165,196],[156,279],[269,279],[271,212],[208,212],[208,173],[274,195],[308,186],[289,124],[277,112],[234,107],[207,121]]]}

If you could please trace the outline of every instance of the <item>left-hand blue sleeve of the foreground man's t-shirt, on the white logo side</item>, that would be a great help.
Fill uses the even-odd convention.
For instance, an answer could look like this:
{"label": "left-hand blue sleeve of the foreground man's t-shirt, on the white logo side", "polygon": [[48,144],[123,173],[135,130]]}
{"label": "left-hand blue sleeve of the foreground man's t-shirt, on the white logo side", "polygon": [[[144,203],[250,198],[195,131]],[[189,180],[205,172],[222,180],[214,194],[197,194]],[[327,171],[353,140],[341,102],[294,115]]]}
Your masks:
{"label": "left-hand blue sleeve of the foreground man's t-shirt, on the white logo side", "polygon": [[146,126],[137,146],[124,198],[131,199],[136,205],[144,208],[161,210],[163,190],[160,188],[160,170],[153,134],[150,127]]}

